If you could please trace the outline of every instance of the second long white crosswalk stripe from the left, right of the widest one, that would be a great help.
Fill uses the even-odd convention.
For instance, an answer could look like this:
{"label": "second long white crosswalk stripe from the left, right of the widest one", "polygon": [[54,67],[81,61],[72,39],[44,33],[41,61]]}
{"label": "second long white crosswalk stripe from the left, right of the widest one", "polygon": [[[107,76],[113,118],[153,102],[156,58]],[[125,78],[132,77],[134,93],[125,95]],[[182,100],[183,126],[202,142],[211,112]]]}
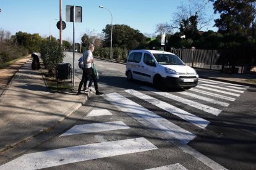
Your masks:
{"label": "second long white crosswalk stripe from the left, right of the widest one", "polygon": [[155,105],[156,107],[166,110],[169,113],[178,116],[179,118],[189,121],[190,123],[194,124],[197,127],[202,128],[202,129],[205,129],[205,127],[207,127],[207,125],[210,123],[210,121],[207,121],[198,116],[192,115],[191,113],[189,113],[185,110],[181,110],[180,108],[174,107],[173,105],[170,105],[169,103],[155,99],[155,98],[150,97],[149,95],[145,95],[141,92],[134,91],[134,90],[126,90],[125,92],[127,92],[131,95],[134,95],[135,97],[138,97],[139,99],[143,99],[143,100],[147,101],[148,103]]}

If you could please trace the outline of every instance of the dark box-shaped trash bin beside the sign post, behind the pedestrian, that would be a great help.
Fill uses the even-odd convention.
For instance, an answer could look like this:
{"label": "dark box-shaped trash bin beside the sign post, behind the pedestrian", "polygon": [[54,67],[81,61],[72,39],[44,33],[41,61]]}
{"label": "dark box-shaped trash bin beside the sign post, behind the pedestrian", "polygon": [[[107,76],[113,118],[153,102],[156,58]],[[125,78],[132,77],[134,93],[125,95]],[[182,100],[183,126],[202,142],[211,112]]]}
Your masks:
{"label": "dark box-shaped trash bin beside the sign post, behind the pedestrian", "polygon": [[70,63],[61,63],[57,65],[56,79],[70,79],[71,65]]}

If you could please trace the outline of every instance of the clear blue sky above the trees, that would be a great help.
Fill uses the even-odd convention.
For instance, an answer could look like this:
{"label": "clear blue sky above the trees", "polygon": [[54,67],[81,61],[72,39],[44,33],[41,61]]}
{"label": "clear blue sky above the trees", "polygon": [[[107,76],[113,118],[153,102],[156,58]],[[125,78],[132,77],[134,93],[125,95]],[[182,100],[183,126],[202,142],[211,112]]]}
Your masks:
{"label": "clear blue sky above the trees", "polygon": [[[155,34],[156,25],[171,23],[177,6],[189,0],[62,0],[62,20],[66,22],[66,6],[82,6],[82,23],[75,22],[75,42],[80,42],[84,33],[102,33],[107,24],[128,25],[143,34]],[[106,7],[102,9],[99,6]],[[56,23],[59,20],[59,0],[0,0],[0,29],[39,33],[43,38],[52,34],[59,38]],[[207,13],[213,14],[213,6],[208,4]],[[214,21],[203,31],[213,30]],[[114,32],[113,32],[114,34]],[[63,39],[72,42],[73,23],[66,22]]]}

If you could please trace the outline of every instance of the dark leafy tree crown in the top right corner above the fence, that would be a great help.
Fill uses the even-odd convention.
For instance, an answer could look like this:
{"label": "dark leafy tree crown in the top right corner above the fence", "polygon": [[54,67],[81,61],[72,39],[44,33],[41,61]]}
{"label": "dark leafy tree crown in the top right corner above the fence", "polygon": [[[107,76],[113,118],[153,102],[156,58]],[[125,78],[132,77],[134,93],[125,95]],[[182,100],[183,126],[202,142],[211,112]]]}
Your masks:
{"label": "dark leafy tree crown in the top right corner above the fence", "polygon": [[215,14],[217,12],[220,14],[220,18],[215,20],[215,26],[219,28],[220,33],[247,35],[255,19],[255,9],[252,6],[255,0],[210,1],[214,2]]}

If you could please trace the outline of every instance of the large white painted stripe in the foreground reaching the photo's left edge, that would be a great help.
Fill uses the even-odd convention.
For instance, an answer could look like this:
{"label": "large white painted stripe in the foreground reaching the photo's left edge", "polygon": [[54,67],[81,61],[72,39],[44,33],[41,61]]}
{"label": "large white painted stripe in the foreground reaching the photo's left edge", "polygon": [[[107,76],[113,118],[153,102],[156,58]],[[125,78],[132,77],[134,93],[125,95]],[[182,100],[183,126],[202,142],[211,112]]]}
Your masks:
{"label": "large white painted stripe in the foreground reaching the photo's left edge", "polygon": [[77,163],[80,161],[145,152],[155,149],[157,149],[157,147],[143,137],[101,142],[97,144],[59,148],[44,152],[28,153],[10,161],[9,163],[1,165],[0,169],[49,168],[62,164]]}

